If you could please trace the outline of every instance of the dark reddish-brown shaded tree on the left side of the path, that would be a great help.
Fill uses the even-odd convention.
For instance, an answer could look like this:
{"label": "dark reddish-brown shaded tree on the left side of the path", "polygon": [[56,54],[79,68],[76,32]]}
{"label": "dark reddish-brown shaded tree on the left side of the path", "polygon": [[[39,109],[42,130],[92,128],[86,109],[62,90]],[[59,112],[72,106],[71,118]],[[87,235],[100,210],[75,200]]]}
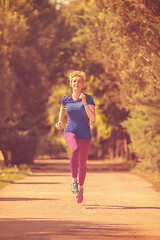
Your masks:
{"label": "dark reddish-brown shaded tree on the left side of the path", "polygon": [[47,101],[52,85],[63,82],[68,70],[72,28],[47,0],[12,1],[3,10],[0,147],[11,150],[12,164],[31,163],[39,140],[50,130]]}

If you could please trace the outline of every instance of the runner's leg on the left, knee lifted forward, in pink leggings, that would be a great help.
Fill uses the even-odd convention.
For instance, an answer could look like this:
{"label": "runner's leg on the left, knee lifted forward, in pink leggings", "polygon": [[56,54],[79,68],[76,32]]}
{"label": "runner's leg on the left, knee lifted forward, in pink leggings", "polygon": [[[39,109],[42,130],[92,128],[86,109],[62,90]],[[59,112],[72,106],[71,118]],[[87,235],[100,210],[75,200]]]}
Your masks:
{"label": "runner's leg on the left, knee lifted forward, in pink leggings", "polygon": [[64,139],[71,150],[70,156],[70,167],[73,178],[77,178],[78,174],[78,159],[79,159],[79,149],[78,149],[78,139],[73,133],[64,134]]}

